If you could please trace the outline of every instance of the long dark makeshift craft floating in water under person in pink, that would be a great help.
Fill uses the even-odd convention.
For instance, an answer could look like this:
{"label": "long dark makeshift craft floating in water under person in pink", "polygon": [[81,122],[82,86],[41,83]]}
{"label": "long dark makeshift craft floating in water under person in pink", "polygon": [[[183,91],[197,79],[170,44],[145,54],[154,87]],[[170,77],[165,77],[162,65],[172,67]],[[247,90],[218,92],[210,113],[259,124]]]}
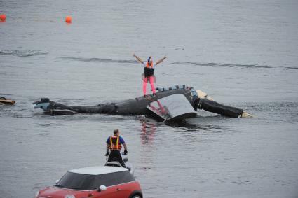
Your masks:
{"label": "long dark makeshift craft floating in water under person in pink", "polygon": [[106,113],[114,115],[148,115],[163,122],[173,122],[196,117],[196,111],[203,109],[231,118],[251,116],[241,108],[225,106],[213,101],[201,90],[193,87],[175,85],[156,88],[156,96],[147,95],[120,102],[98,104],[97,106],[67,106],[48,98],[33,103],[50,115],[74,115],[76,113]]}

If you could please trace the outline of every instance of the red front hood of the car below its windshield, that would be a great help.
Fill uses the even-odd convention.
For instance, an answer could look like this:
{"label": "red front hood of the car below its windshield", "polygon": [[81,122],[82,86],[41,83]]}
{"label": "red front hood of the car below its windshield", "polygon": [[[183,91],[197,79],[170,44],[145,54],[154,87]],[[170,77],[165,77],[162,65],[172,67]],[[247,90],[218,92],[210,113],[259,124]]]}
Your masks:
{"label": "red front hood of the car below its windshield", "polygon": [[48,187],[40,190],[39,197],[64,198],[65,195],[88,196],[92,191],[72,190],[67,188]]}

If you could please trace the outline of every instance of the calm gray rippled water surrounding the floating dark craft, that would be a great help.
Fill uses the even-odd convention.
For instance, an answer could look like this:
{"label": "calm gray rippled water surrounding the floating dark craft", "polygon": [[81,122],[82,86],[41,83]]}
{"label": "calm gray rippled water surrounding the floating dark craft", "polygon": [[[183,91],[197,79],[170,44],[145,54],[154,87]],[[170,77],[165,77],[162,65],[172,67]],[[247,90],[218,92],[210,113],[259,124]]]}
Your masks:
{"label": "calm gray rippled water surrounding the floating dark craft", "polygon": [[[120,129],[144,197],[298,197],[298,1],[0,1],[0,197],[33,197],[65,171],[104,164]],[[73,22],[65,24],[65,16]],[[32,102],[96,105],[189,85],[254,118],[198,112],[48,116]],[[148,86],[149,89],[149,86]]]}

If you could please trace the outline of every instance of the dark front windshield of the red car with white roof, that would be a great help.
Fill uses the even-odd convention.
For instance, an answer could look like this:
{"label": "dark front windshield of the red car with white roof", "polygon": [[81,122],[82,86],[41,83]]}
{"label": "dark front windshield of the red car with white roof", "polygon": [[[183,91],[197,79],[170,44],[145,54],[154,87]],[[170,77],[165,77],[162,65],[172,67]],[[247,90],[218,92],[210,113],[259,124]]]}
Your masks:
{"label": "dark front windshield of the red car with white roof", "polygon": [[94,180],[94,175],[67,172],[55,186],[76,190],[93,190]]}

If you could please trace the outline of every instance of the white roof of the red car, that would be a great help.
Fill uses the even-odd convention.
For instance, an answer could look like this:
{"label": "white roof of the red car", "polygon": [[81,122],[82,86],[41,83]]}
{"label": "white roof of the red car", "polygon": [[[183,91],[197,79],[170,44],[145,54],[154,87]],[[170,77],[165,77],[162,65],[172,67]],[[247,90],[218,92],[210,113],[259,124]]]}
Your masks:
{"label": "white roof of the red car", "polygon": [[69,172],[76,173],[76,174],[101,175],[101,174],[109,174],[109,173],[120,172],[120,171],[128,171],[128,169],[125,169],[122,167],[98,166],[98,167],[85,167],[80,169],[73,169],[73,170],[70,170]]}

